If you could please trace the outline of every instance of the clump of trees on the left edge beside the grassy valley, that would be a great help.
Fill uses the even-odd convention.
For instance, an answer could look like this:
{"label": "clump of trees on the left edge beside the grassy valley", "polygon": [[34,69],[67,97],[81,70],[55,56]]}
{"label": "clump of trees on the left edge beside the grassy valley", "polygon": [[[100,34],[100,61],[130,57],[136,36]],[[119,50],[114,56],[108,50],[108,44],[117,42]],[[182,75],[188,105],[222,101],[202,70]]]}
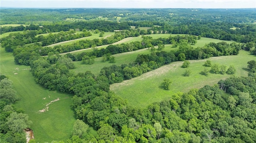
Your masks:
{"label": "clump of trees on the left edge beside the grassy valley", "polygon": [[0,139],[3,143],[25,143],[26,135],[23,129],[32,123],[28,115],[22,109],[14,108],[13,104],[18,100],[16,91],[12,87],[12,81],[1,75],[0,80]]}

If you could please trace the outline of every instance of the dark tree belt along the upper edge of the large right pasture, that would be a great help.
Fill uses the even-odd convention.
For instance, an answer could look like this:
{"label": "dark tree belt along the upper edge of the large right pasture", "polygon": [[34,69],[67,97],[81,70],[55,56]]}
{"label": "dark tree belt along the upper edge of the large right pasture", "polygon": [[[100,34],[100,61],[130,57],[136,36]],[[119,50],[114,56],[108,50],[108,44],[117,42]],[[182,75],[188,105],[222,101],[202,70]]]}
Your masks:
{"label": "dark tree belt along the upper edge of the large right pasture", "polygon": [[[140,76],[142,73],[151,71],[153,69],[157,69],[158,67],[169,64],[173,61],[185,61],[190,59],[204,59],[208,57],[221,56],[226,54],[226,50],[222,50],[221,47],[211,47],[212,43],[206,44],[205,47],[200,48],[189,48],[183,49],[179,48],[178,51],[158,51],[152,52],[150,55],[138,55],[136,60],[129,65],[122,64],[121,66],[112,65],[110,67],[104,67],[100,71],[100,75],[106,76],[110,84],[114,82],[122,82],[122,80],[131,79],[136,76]],[[216,45],[226,45],[226,49],[228,51],[232,51],[229,53],[230,55],[238,54],[239,49],[241,48],[240,44],[236,43],[217,43]],[[233,53],[235,51],[235,53]],[[184,66],[187,67],[189,64]],[[231,67],[232,68],[232,67]],[[187,71],[186,75],[189,76],[189,71]],[[208,73],[209,71],[207,71]],[[220,72],[218,68],[218,72]],[[226,67],[221,71],[226,72]],[[202,73],[204,74],[204,73]],[[224,74],[224,73],[222,73]]]}

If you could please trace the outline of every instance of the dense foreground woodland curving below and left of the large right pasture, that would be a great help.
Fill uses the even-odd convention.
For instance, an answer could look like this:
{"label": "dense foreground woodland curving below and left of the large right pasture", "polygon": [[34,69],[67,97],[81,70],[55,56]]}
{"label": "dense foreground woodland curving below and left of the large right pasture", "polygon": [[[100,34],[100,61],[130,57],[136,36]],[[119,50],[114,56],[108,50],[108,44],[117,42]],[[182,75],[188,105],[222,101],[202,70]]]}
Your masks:
{"label": "dense foreground woodland curving below and left of the large right pasture", "polygon": [[[50,90],[74,94],[73,106],[80,120],[67,142],[256,141],[255,77],[233,76],[214,86],[174,94],[170,100],[155,102],[147,108],[135,108],[109,91],[106,76],[95,76],[89,71],[69,72],[71,61],[49,56],[31,65],[36,82]],[[88,133],[88,125],[82,121],[97,132]]]}

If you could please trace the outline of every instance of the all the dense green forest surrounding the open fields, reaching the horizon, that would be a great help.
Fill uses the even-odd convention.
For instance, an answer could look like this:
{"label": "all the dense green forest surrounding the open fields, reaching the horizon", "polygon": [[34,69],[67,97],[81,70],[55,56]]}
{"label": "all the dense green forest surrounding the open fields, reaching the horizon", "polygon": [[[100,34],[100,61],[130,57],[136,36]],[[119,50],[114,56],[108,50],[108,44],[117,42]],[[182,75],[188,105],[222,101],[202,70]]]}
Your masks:
{"label": "all the dense green forest surrounding the open fields, reaching the horizon", "polygon": [[[188,60],[238,55],[240,50],[256,55],[255,14],[255,9],[4,8],[1,9],[0,24],[24,25],[1,27],[1,34],[20,32],[1,37],[0,42],[1,48],[12,53],[15,64],[30,67],[34,80],[42,88],[72,95],[72,110],[77,118],[72,137],[53,143],[255,143],[256,60],[248,61],[245,69],[248,76],[230,76],[213,86],[178,92],[170,95],[168,100],[154,102],[146,108],[130,106],[110,90],[110,84],[176,61],[184,61],[182,67],[186,68],[190,64]],[[117,20],[117,17],[121,19]],[[67,21],[68,18],[76,20]],[[102,35],[104,32],[114,34],[101,39],[49,46],[99,32]],[[43,33],[50,34],[38,35]],[[170,36],[150,37],[158,33]],[[112,45],[124,38],[138,36],[142,41]],[[202,37],[233,43],[209,42],[201,47],[192,47]],[[164,51],[166,44],[178,49]],[[101,45],[108,46],[95,48]],[[93,50],[67,53],[88,48]],[[91,71],[70,71],[76,68],[74,61],[90,65],[94,64],[96,57],[102,57],[102,62],[115,63],[112,55],[139,49],[148,49],[150,54],[139,54],[129,64],[103,67],[98,75]],[[208,72],[235,73],[232,66],[222,70],[221,66],[211,65],[209,61],[204,66],[211,67],[210,71],[201,72],[206,76]],[[12,81],[2,73],[0,79],[1,142],[24,143],[26,139],[22,130],[32,122],[22,109],[15,108],[15,102],[20,99]],[[162,88],[168,90],[169,84],[168,79],[164,80]],[[89,127],[94,132],[90,132]],[[36,143],[36,138],[30,143]]]}

